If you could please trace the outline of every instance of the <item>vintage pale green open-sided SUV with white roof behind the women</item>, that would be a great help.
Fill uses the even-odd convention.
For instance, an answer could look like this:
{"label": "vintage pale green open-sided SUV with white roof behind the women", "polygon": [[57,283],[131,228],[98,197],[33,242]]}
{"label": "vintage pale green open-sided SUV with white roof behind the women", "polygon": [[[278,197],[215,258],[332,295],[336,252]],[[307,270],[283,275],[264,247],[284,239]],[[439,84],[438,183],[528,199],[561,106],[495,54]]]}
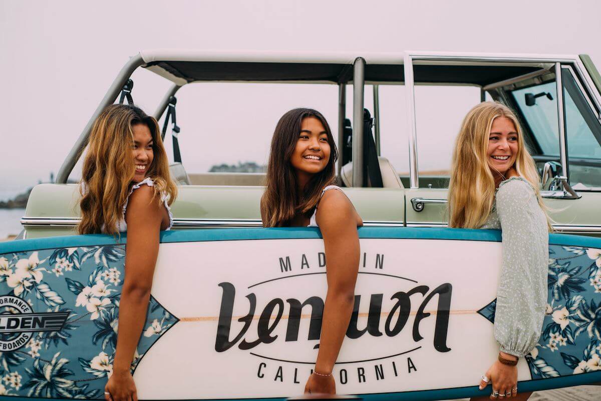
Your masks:
{"label": "vintage pale green open-sided SUV with white roof behind the women", "polygon": [[[21,220],[24,230],[20,238],[73,234],[78,222],[78,186],[67,184],[68,178],[85,150],[94,119],[120,94],[121,101],[131,96],[130,76],[138,68],[152,71],[169,82],[169,89],[154,113],[157,119],[169,110],[173,112],[174,95],[191,83],[337,85],[337,132],[341,148],[337,168],[365,226],[446,225],[448,169],[458,127],[442,137],[440,131],[447,128],[445,121],[436,121],[439,110],[428,110],[426,117],[418,117],[423,110],[420,107],[433,101],[427,95],[435,91],[427,88],[436,86],[451,91],[472,88],[479,94],[474,96],[473,104],[493,99],[516,110],[543,177],[542,194],[551,208],[555,229],[601,236],[601,76],[587,55],[154,50],[130,58],[61,166],[56,182],[34,188]],[[346,115],[347,85],[349,89],[352,86],[352,116],[349,115],[352,124]],[[368,85],[373,89],[373,98],[364,97]],[[393,87],[402,89],[398,100],[404,101],[405,110],[398,107],[384,113],[386,104],[380,101],[380,90]],[[364,143],[369,143],[364,138],[372,134],[371,120],[364,119],[367,103],[373,103],[375,141],[371,142],[375,143],[382,174],[383,185],[377,188],[367,184],[373,181],[367,179],[366,155],[370,149],[364,149]],[[260,108],[260,105],[247,107]],[[387,118],[390,121],[405,116],[404,124],[395,124],[385,132]],[[421,131],[420,127],[432,123],[439,124],[441,130]],[[260,226],[263,174],[187,172],[180,155],[177,126],[172,124],[170,131],[175,136],[171,169],[180,184],[172,207],[174,228]],[[397,143],[399,138],[406,139],[409,151],[406,152],[405,145],[398,146],[402,150],[382,146],[386,135],[394,137]],[[181,145],[186,146],[185,137]],[[394,156],[399,152],[400,157]],[[440,163],[436,164],[436,160]],[[370,167],[372,171],[373,168]]]}

